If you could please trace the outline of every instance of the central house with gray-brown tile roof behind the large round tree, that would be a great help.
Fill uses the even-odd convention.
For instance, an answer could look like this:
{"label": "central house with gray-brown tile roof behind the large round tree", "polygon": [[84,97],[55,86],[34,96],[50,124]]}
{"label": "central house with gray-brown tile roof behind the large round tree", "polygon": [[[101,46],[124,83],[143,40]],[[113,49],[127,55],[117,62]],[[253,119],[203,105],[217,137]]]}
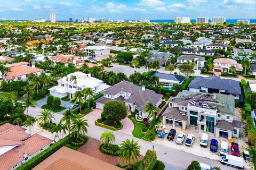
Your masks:
{"label": "central house with gray-brown tile roof behind the large round tree", "polygon": [[150,102],[154,106],[159,106],[162,103],[163,95],[156,94],[155,91],[146,89],[145,86],[135,86],[132,82],[122,81],[112,87],[102,91],[103,96],[94,102],[96,108],[103,109],[105,101],[121,100],[125,103],[127,110],[138,112],[142,118],[149,117],[151,121],[153,116],[144,112],[145,105]]}

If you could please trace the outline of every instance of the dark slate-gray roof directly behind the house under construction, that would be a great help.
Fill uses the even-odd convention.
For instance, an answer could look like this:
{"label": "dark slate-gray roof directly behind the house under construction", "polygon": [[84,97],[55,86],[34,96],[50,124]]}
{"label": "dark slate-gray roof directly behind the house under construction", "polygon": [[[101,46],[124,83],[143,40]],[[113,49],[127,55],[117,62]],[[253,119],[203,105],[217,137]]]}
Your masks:
{"label": "dark slate-gray roof directly behind the house under construction", "polygon": [[215,75],[210,75],[207,78],[198,76],[188,85],[188,88],[201,89],[201,87],[225,90],[229,94],[242,94],[238,81],[232,79],[221,79]]}

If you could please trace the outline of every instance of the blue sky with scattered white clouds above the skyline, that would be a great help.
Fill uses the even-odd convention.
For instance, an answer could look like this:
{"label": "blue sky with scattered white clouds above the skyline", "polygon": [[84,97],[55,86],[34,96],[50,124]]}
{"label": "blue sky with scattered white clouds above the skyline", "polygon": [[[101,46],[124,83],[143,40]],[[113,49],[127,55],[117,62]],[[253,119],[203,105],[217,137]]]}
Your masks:
{"label": "blue sky with scattered white clouds above the skyline", "polygon": [[0,19],[69,18],[173,19],[175,16],[226,16],[255,19],[255,0],[1,0]]}

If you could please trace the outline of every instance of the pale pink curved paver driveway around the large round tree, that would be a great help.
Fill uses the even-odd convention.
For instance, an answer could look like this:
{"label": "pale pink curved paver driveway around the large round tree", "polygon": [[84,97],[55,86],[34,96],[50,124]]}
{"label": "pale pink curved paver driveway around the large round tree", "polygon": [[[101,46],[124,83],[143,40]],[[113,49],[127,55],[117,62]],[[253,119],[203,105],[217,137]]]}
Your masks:
{"label": "pale pink curved paver driveway around the large round tree", "polygon": [[[95,120],[100,118],[100,114],[102,113],[101,109],[94,109],[91,113],[84,116],[86,120],[88,120],[89,123],[94,124]],[[125,133],[132,136],[132,131],[134,129],[132,121],[125,117],[122,121],[123,128],[119,130],[118,132]]]}

